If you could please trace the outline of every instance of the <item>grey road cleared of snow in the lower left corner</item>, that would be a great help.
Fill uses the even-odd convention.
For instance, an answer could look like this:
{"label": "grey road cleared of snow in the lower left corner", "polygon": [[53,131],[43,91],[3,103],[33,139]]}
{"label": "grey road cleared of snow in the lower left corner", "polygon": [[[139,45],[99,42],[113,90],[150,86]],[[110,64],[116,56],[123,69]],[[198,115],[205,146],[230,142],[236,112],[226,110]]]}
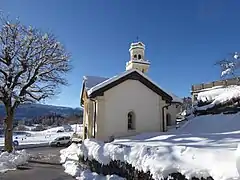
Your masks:
{"label": "grey road cleared of snow in the lower left corner", "polygon": [[[28,149],[27,152],[34,157],[50,163],[59,163],[59,151],[62,148],[41,147]],[[50,157],[50,158],[49,158]],[[36,158],[37,159],[37,158]],[[25,170],[8,171],[0,174],[0,180],[73,180],[71,176],[64,173],[61,165],[28,163]]]}

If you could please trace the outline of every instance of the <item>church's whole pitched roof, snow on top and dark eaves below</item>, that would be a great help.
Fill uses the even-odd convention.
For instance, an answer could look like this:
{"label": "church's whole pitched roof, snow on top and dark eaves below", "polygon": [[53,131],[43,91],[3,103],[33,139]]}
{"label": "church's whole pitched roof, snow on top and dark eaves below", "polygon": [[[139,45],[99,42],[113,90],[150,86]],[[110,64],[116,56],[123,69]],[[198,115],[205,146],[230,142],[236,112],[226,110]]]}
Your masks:
{"label": "church's whole pitched roof, snow on top and dark eaves below", "polygon": [[144,73],[136,69],[125,71],[119,75],[111,78],[97,77],[97,76],[84,76],[84,88],[87,90],[89,97],[94,98],[102,95],[104,91],[120,84],[127,79],[139,80],[148,88],[152,89],[155,93],[161,95],[164,100],[172,102],[182,102],[177,96],[164,91],[155,82],[149,79]]}

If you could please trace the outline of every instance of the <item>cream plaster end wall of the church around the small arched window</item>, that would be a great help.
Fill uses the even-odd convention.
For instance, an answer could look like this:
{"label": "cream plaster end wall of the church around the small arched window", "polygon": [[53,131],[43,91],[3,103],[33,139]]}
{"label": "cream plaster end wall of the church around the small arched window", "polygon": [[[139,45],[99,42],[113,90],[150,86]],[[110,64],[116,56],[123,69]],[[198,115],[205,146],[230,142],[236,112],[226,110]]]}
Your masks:
{"label": "cream plaster end wall of the church around the small arched window", "polygon": [[[165,103],[141,82],[126,80],[106,91],[102,99],[99,103],[101,106],[98,106],[98,139],[162,130],[161,107]],[[134,111],[136,118],[136,129],[131,131],[127,125],[127,114],[130,111]]]}

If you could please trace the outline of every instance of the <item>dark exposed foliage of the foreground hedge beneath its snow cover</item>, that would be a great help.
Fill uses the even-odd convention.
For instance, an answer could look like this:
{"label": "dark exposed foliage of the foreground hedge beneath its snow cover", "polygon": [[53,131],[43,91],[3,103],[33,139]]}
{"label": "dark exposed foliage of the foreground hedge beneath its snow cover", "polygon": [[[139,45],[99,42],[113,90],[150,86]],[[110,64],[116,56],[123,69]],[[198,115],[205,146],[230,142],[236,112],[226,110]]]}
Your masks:
{"label": "dark exposed foliage of the foreground hedge beneath its snow cover", "polygon": [[[80,164],[84,164],[90,169],[92,172],[96,172],[98,174],[106,175],[118,175],[127,180],[153,180],[150,171],[143,172],[135,169],[131,164],[127,162],[121,162],[119,160],[112,160],[108,165],[100,164],[96,160],[89,160],[83,157],[79,158]],[[179,172],[169,174],[172,180],[188,180],[184,175]],[[168,180],[165,178],[164,180]],[[196,178],[193,177],[191,180],[214,180],[212,177],[207,178]]]}

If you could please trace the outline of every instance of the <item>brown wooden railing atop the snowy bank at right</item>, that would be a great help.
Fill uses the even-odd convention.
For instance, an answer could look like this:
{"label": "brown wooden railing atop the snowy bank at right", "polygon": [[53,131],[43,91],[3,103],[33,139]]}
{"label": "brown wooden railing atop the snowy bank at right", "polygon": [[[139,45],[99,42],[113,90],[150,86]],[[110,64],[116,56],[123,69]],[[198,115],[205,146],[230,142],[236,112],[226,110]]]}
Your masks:
{"label": "brown wooden railing atop the snowy bank at right", "polygon": [[240,85],[240,77],[192,85],[191,90],[192,102],[193,103],[197,102],[197,97],[200,92],[205,92],[213,89],[220,89],[231,85]]}

